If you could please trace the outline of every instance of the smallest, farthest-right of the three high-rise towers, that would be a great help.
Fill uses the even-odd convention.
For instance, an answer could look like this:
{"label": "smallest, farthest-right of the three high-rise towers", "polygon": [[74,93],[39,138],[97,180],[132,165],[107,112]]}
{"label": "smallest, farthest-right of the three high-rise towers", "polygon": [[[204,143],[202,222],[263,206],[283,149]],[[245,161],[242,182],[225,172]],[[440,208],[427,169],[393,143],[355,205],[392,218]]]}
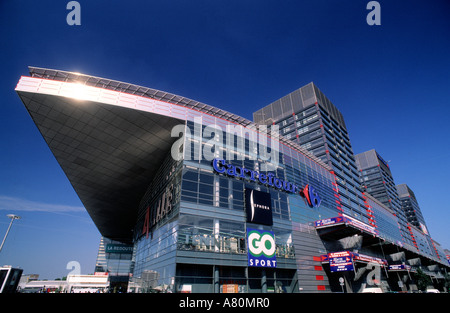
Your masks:
{"label": "smallest, farthest-right of the three high-rise towers", "polygon": [[417,202],[416,195],[407,184],[397,185],[397,193],[407,221],[428,234],[428,229]]}

